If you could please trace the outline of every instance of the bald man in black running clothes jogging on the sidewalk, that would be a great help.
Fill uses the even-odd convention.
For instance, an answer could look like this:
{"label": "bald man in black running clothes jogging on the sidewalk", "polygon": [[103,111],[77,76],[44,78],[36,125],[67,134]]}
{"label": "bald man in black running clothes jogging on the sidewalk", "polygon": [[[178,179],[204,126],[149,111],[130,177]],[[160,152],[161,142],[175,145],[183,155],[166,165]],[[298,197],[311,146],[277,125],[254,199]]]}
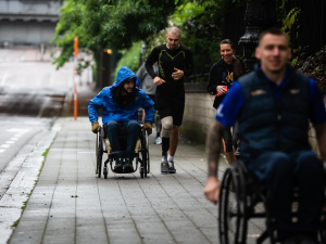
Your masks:
{"label": "bald man in black running clothes jogging on the sidewalk", "polygon": [[[174,155],[179,142],[179,127],[185,111],[184,77],[192,74],[192,54],[181,46],[181,30],[171,27],[166,43],[155,47],[150,53],[146,68],[156,86],[156,107],[162,121],[162,174],[175,174]],[[158,62],[159,75],[152,65]],[[167,156],[168,151],[168,156]]]}

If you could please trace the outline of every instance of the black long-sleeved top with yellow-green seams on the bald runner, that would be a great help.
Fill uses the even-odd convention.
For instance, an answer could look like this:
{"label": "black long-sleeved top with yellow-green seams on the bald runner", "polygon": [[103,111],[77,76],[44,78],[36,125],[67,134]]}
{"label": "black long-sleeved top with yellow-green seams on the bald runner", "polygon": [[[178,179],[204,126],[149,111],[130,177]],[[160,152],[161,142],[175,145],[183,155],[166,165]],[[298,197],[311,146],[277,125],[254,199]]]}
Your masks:
{"label": "black long-sleeved top with yellow-green seams on the bald runner", "polygon": [[176,50],[166,48],[166,44],[155,47],[146,62],[146,69],[152,78],[158,75],[152,68],[152,65],[158,62],[159,77],[164,79],[165,82],[156,87],[156,95],[171,97],[171,98],[184,98],[184,77],[174,80],[172,73],[176,72],[174,68],[184,70],[184,76],[189,76],[193,72],[192,54],[189,48],[180,46]]}

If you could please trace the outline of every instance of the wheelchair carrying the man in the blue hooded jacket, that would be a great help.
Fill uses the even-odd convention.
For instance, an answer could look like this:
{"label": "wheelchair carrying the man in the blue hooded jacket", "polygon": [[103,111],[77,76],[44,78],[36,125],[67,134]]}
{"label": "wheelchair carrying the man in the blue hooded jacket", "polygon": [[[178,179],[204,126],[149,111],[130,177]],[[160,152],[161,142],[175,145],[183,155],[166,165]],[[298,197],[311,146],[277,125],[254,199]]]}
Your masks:
{"label": "wheelchair carrying the man in the blue hooded jacket", "polygon": [[[113,172],[115,172],[114,168],[113,168],[113,162],[114,162],[114,155],[116,155],[116,154],[121,154],[123,156],[124,155],[125,156],[133,156],[133,158],[134,158],[134,160],[133,160],[134,171],[133,172],[137,171],[138,165],[139,165],[140,178],[147,177],[147,175],[150,172],[149,136],[147,133],[147,130],[143,128],[143,125],[139,124],[139,126],[140,126],[139,138],[137,140],[136,149],[135,149],[134,152],[127,152],[127,151],[112,152],[111,150],[109,150],[109,152],[108,152],[108,147],[110,147],[110,146],[108,146],[108,143],[110,144],[110,142],[109,142],[109,139],[106,138],[106,136],[105,136],[105,131],[104,131],[103,127],[101,127],[101,129],[97,132],[97,142],[96,142],[97,167],[96,167],[96,175],[98,176],[98,178],[101,178],[101,175],[103,172],[104,179],[108,179],[108,175],[109,175],[108,164],[110,164],[111,170]],[[126,131],[120,133],[118,137],[120,137],[121,146],[123,149],[123,147],[125,147],[126,141],[127,141]],[[108,158],[102,164],[104,153],[108,154]],[[116,174],[131,174],[131,172],[116,172]]]}

